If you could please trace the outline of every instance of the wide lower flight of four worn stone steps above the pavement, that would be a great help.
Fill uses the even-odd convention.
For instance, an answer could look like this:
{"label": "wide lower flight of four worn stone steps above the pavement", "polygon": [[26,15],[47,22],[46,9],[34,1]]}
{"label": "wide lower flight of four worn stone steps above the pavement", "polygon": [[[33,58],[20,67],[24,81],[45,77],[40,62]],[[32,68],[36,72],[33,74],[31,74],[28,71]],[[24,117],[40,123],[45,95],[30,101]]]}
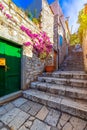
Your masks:
{"label": "wide lower flight of four worn stone steps above the pavement", "polygon": [[82,71],[43,73],[23,96],[87,120],[87,74]]}

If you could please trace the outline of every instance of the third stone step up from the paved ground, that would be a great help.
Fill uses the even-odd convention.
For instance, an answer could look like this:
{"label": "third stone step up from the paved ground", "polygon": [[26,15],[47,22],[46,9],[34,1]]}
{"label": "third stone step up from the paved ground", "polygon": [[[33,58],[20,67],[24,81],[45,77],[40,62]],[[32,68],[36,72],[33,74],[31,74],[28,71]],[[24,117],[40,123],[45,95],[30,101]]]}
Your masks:
{"label": "third stone step up from the paved ground", "polygon": [[54,77],[38,77],[38,81],[47,82],[52,84],[61,84],[71,87],[87,88],[87,80],[79,79],[65,79],[65,78],[54,78]]}

